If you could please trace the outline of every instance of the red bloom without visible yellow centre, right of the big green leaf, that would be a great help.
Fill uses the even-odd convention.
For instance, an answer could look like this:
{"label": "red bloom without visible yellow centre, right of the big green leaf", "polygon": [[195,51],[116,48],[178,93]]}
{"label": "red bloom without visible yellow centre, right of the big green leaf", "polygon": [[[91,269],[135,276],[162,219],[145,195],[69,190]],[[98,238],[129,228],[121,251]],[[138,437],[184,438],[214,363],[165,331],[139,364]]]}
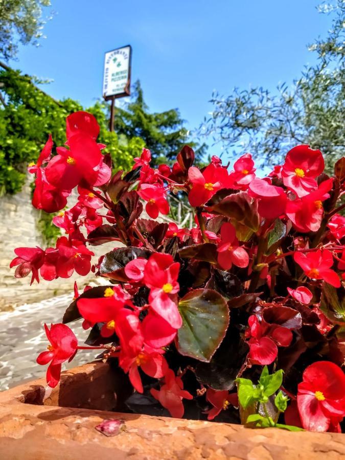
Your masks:
{"label": "red bloom without visible yellow centre, right of the big green leaf", "polygon": [[249,337],[248,358],[253,364],[271,364],[278,355],[279,347],[288,347],[292,340],[292,332],[278,325],[259,323],[256,315],[248,318],[249,329],[245,336]]}

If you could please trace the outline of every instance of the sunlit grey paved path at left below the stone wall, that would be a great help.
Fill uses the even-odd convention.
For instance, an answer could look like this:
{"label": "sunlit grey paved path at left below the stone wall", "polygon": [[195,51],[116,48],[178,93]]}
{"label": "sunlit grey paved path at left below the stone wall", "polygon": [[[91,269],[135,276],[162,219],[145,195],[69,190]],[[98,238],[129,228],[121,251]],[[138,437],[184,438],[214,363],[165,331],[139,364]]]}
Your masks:
{"label": "sunlit grey paved path at left below the stone wall", "polygon": [[[0,390],[45,375],[47,366],[36,363],[37,355],[46,350],[49,343],[43,324],[59,323],[66,307],[72,302],[71,297],[70,294],[64,294],[0,313]],[[69,326],[83,343],[88,333],[82,329],[81,321]],[[62,365],[62,369],[83,364],[96,356],[97,350],[79,351],[71,363]]]}

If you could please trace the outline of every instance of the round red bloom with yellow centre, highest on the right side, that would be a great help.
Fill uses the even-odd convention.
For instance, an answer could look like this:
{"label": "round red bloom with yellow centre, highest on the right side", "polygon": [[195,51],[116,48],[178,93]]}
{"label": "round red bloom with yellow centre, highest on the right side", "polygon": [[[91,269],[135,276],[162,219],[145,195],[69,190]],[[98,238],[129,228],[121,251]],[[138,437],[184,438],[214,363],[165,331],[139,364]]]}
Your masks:
{"label": "round red bloom with yellow centre, highest on the right side", "polygon": [[283,182],[298,197],[308,195],[317,189],[315,178],[325,169],[325,162],[319,150],[309,145],[297,145],[285,158],[282,168]]}

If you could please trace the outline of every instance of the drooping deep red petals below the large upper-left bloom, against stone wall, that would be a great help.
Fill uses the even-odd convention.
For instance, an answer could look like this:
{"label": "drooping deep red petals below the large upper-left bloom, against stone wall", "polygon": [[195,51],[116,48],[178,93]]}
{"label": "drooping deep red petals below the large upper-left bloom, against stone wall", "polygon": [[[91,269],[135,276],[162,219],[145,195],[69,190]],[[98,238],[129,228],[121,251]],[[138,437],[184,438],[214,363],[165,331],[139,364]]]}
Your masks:
{"label": "drooping deep red petals below the large upper-left bloom, against stone wall", "polygon": [[42,209],[46,213],[56,213],[67,204],[67,197],[71,190],[60,190],[45,180],[42,170],[36,171],[35,190],[32,197],[32,205],[36,209]]}

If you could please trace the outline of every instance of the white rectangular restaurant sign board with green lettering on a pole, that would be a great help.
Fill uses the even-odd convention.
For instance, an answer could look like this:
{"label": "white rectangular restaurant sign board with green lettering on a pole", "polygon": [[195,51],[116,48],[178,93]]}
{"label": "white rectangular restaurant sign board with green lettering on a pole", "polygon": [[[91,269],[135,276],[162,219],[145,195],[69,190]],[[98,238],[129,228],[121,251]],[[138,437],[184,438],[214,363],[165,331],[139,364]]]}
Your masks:
{"label": "white rectangular restaurant sign board with green lettering on a pole", "polygon": [[104,56],[103,97],[129,96],[131,47],[108,51]]}

